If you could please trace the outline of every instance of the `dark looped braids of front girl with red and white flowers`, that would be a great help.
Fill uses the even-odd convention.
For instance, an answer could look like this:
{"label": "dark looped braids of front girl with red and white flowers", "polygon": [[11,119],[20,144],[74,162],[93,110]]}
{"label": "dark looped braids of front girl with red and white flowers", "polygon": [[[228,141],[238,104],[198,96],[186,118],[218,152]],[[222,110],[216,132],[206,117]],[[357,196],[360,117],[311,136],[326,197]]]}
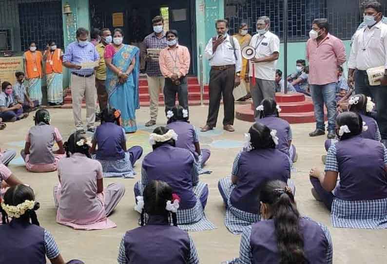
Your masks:
{"label": "dark looped braids of front girl with red and white flowers", "polygon": [[167,201],[172,201],[172,188],[166,182],[154,180],[151,181],[144,189],[144,209],[141,212],[141,226],[145,223],[145,213],[148,215],[161,215],[169,219],[171,224],[177,226],[176,213],[168,211],[165,207]]}

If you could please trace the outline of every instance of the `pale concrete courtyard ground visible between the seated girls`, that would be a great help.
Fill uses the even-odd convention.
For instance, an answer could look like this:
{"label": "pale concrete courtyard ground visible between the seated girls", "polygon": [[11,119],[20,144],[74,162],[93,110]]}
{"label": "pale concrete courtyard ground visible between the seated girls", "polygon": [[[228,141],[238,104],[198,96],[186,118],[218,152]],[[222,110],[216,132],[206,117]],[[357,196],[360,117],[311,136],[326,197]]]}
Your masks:
{"label": "pale concrete courtyard ground visible between the seated girls", "polygon": [[[202,126],[207,116],[207,107],[192,107],[191,122]],[[73,115],[71,110],[52,109],[52,124],[58,127],[66,139],[73,131]],[[85,116],[85,113],[82,113]],[[159,110],[160,118],[157,125],[164,125],[166,118],[163,109]],[[137,121],[140,130],[135,134],[127,134],[128,145],[141,145],[145,154],[151,151],[148,145],[148,129],[143,124],[148,121],[149,109],[137,111]],[[231,173],[232,162],[241,149],[243,133],[247,132],[251,123],[235,120],[236,132],[222,130],[223,111],[219,113],[218,129],[207,134],[200,134],[203,147],[211,148],[211,158],[207,169],[212,170],[210,175],[202,175],[201,181],[210,188],[210,196],[206,207],[206,214],[217,229],[203,232],[192,232],[201,263],[221,263],[238,256],[239,235],[233,235],[224,226],[225,209],[222,198],[217,189],[218,180]],[[8,124],[6,130],[0,132],[0,147],[10,148],[19,152],[23,146],[28,128],[33,125],[33,118]],[[297,206],[302,214],[324,223],[329,227],[333,239],[334,263],[337,264],[381,264],[387,262],[387,230],[361,230],[333,228],[329,211],[322,203],[315,201],[310,194],[308,172],[312,166],[323,169],[321,155],[324,154],[324,140],[320,136],[310,138],[308,132],[314,129],[314,124],[292,125],[293,144],[297,148],[299,160],[295,163],[297,172],[292,174],[296,184]],[[19,154],[18,154],[19,157]],[[19,164],[19,165],[18,165]],[[101,231],[76,231],[67,226],[56,223],[56,210],[52,196],[54,184],[58,182],[56,172],[30,173],[21,165],[20,158],[14,160],[10,169],[23,182],[32,186],[36,192],[36,199],[40,202],[38,218],[41,226],[50,230],[65,260],[81,259],[87,264],[116,263],[118,245],[122,234],[137,227],[139,215],[133,210],[133,186],[140,179],[141,163],[137,163],[135,179],[104,179],[104,184],[120,182],[126,186],[126,193],[110,219],[117,224],[117,228]],[[157,261],[155,260],[155,263]]]}

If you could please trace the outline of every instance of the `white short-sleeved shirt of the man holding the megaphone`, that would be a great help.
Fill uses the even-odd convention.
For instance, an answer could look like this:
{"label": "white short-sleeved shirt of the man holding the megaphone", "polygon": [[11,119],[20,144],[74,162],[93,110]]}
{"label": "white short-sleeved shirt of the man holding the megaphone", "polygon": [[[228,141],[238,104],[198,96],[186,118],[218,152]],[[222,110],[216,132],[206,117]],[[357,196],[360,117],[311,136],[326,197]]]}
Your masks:
{"label": "white short-sleeved shirt of the man holding the megaphone", "polygon": [[[263,58],[271,56],[274,52],[279,53],[280,41],[277,35],[266,32],[264,35],[255,34],[250,40],[250,46],[256,49],[255,58]],[[249,76],[252,77],[252,61],[250,63]],[[277,59],[269,62],[254,63],[255,78],[262,80],[275,80],[275,71],[277,67]]]}

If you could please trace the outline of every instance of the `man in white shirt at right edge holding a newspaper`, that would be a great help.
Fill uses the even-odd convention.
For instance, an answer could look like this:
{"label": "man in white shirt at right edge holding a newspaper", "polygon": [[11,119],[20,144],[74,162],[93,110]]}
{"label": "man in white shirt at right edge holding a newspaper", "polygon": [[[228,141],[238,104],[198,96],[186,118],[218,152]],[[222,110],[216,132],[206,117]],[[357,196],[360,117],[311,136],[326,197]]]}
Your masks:
{"label": "man in white shirt at right edge holding a newspaper", "polygon": [[[367,27],[355,33],[348,61],[348,85],[355,83],[355,93],[371,96],[376,103],[377,122],[382,142],[387,143],[387,25],[382,5],[377,1],[362,4]],[[370,86],[367,70],[385,66],[381,85]]]}

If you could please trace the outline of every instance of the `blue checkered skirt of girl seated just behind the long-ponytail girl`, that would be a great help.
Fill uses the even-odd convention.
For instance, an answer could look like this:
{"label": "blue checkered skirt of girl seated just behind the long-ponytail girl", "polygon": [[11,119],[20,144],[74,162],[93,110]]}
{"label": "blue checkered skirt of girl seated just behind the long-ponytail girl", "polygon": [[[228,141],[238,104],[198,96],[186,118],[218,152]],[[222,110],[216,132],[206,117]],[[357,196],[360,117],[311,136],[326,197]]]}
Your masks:
{"label": "blue checkered skirt of girl seated just behind the long-ponytail girl", "polygon": [[227,209],[224,224],[230,232],[233,234],[240,234],[246,226],[251,226],[256,222],[261,221],[261,216],[259,214],[245,212],[231,205],[230,196],[235,185],[232,184],[230,177],[221,179],[219,183],[220,188],[227,197]]}

